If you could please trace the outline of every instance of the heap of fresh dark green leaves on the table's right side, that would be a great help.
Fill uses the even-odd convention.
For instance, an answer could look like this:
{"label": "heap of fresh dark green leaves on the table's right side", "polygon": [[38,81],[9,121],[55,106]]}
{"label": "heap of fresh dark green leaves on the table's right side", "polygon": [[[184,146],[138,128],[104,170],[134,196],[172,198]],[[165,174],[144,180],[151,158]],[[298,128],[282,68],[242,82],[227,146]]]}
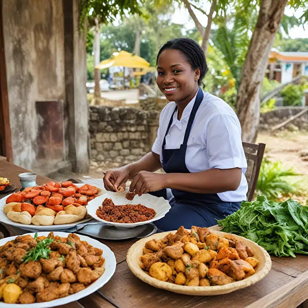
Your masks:
{"label": "heap of fresh dark green leaves on the table's right side", "polygon": [[246,237],[278,257],[308,254],[308,207],[292,199],[243,201],[237,212],[217,223],[221,231]]}

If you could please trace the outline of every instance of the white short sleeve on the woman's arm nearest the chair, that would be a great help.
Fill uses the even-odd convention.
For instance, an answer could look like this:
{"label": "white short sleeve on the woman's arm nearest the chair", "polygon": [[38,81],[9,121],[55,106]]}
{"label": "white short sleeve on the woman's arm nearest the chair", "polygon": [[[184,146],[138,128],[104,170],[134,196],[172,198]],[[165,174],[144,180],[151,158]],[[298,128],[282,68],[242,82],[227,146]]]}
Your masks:
{"label": "white short sleeve on the woman's arm nearest the chair", "polygon": [[241,168],[245,174],[247,160],[236,115],[213,116],[206,127],[205,141],[210,168]]}

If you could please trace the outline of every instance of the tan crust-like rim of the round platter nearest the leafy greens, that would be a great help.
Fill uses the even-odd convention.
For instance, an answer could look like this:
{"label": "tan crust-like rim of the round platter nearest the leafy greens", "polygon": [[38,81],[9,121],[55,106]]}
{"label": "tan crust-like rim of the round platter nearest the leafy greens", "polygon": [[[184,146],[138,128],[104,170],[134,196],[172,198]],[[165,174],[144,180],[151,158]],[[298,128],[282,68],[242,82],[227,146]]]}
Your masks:
{"label": "tan crust-like rim of the round platter nearest the leafy greens", "polygon": [[[224,237],[224,234],[226,234],[225,232],[220,232],[216,230],[211,230],[211,232],[220,237]],[[243,241],[251,247],[254,253],[254,257],[260,262],[255,269],[256,272],[250,277],[237,282],[226,284],[224,286],[179,286],[174,283],[160,281],[149,276],[143,270],[141,270],[140,265],[142,263],[140,257],[143,254],[142,249],[147,241],[152,239],[159,240],[165,237],[168,233],[176,233],[176,231],[157,233],[150,237],[143,238],[133,244],[127,252],[126,261],[130,270],[137,278],[141,279],[143,282],[146,282],[153,287],[187,295],[200,296],[226,294],[255,284],[256,282],[264,278],[271,269],[272,261],[270,259],[270,255],[263,247],[244,237],[234,235],[234,237],[237,238],[239,241]]]}

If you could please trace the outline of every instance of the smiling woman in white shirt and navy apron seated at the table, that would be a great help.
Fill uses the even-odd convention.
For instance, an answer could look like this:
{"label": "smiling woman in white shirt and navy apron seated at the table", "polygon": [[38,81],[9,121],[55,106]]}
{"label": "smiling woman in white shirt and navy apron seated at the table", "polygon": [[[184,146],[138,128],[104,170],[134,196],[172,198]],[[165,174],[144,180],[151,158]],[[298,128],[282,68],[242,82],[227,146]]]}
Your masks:
{"label": "smiling woman in white shirt and navy apron seated at the table", "polygon": [[[170,211],[155,222],[164,231],[216,225],[246,200],[241,126],[227,103],[201,90],[207,70],[195,41],[164,44],[157,56],[157,85],[170,103],[160,114],[152,152],[104,176],[108,190],[124,188],[132,179],[130,192],[167,199]],[[154,173],[160,168],[166,173]]]}

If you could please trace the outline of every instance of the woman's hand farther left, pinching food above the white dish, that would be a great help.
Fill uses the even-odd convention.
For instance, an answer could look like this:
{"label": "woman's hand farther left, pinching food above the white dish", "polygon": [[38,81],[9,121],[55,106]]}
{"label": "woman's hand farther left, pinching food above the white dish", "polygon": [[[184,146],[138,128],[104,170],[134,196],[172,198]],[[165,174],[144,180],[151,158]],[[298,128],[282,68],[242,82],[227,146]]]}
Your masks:
{"label": "woman's hand farther left, pinching food above the white dish", "polygon": [[125,190],[128,178],[128,168],[109,170],[105,173],[105,176],[103,178],[105,189],[109,191],[117,191],[120,190],[120,187],[123,187]]}

